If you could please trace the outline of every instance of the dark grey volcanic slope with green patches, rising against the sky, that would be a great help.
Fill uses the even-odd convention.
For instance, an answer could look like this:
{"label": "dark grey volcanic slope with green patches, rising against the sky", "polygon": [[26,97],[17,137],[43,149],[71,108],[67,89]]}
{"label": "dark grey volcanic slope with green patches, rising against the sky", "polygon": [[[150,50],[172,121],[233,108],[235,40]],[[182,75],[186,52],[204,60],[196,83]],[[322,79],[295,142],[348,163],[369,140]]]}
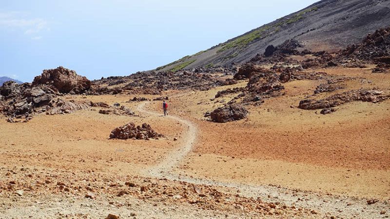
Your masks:
{"label": "dark grey volcanic slope with green patches, rising against the sky", "polygon": [[[259,11],[261,13],[261,11]],[[370,32],[390,25],[390,0],[321,0],[206,51],[185,56],[156,70],[230,66],[249,61],[270,45],[287,39],[305,49],[335,51],[360,42]]]}

